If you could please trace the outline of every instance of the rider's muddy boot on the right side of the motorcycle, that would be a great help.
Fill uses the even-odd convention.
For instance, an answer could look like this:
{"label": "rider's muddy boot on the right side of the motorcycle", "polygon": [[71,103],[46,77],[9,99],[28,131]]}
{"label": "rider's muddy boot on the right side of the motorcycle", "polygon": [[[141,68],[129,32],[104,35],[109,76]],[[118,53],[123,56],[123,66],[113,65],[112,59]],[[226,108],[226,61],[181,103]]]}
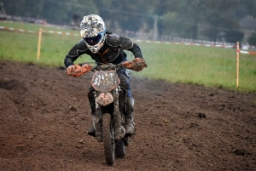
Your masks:
{"label": "rider's muddy boot on the right side of the motorcycle", "polygon": [[133,98],[127,98],[126,101],[126,113],[125,113],[125,133],[126,134],[135,134],[136,128],[133,120]]}

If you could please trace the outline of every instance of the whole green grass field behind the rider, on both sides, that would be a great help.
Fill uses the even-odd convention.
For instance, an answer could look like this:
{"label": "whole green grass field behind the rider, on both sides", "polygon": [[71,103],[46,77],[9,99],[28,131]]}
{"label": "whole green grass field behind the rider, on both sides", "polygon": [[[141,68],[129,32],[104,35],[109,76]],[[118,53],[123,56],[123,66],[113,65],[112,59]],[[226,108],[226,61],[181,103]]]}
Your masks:
{"label": "whole green grass field behind the rider, on both sides", "polygon": [[[45,26],[0,22],[0,26],[38,31],[62,30]],[[0,30],[0,60],[32,62],[46,66],[64,66],[63,60],[80,37],[43,33],[41,55],[37,60],[38,34]],[[210,87],[236,89],[236,49],[197,47],[164,43],[138,43],[148,68],[133,75],[170,83],[198,83]],[[134,57],[127,52],[128,59]],[[90,56],[82,55],[76,63],[90,62]],[[256,56],[240,54],[241,91],[256,91]]]}

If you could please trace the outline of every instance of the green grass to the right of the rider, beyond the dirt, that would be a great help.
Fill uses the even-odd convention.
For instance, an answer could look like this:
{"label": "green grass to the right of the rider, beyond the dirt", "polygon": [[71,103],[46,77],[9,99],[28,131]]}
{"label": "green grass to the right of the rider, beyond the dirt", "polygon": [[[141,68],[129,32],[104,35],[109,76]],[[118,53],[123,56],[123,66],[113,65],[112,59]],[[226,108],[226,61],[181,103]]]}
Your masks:
{"label": "green grass to the right of the rider, beyond the dirt", "polygon": [[[142,44],[148,69],[143,77],[236,89],[236,49]],[[152,67],[151,67],[152,66]],[[240,54],[239,89],[256,90],[256,56]]]}

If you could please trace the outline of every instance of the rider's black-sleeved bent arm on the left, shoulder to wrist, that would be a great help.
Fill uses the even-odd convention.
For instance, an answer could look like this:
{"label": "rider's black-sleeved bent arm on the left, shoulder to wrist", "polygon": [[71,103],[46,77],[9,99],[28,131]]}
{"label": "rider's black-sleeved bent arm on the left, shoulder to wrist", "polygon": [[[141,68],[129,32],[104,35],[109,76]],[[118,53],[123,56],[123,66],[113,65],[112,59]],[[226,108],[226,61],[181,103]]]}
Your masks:
{"label": "rider's black-sleeved bent arm on the left, shoulder to wrist", "polygon": [[64,60],[65,66],[73,66],[73,62],[77,60],[80,55],[85,54],[87,50],[88,48],[85,46],[84,40],[80,40],[79,43],[75,44],[66,55]]}

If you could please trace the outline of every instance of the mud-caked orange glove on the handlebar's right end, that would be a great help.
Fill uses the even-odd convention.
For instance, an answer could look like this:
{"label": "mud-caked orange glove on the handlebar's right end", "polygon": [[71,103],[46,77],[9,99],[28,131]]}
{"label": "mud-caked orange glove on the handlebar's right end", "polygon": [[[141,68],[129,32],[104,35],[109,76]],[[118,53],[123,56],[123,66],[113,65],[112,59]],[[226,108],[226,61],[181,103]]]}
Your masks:
{"label": "mud-caked orange glove on the handlebar's right end", "polygon": [[142,71],[143,68],[148,67],[145,60],[143,60],[142,58],[135,58],[131,62],[130,61],[122,62],[121,65],[133,71]]}

